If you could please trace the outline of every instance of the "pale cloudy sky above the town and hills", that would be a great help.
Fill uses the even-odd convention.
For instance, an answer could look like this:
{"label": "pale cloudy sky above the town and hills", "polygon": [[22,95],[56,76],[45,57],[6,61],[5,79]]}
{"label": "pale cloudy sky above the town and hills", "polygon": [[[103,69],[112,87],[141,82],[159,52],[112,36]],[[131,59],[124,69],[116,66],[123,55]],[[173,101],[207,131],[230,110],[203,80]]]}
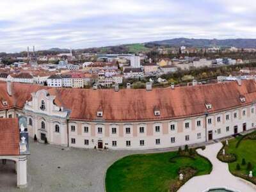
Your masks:
{"label": "pale cloudy sky above the town and hills", "polygon": [[255,0],[1,0],[0,52],[256,38]]}

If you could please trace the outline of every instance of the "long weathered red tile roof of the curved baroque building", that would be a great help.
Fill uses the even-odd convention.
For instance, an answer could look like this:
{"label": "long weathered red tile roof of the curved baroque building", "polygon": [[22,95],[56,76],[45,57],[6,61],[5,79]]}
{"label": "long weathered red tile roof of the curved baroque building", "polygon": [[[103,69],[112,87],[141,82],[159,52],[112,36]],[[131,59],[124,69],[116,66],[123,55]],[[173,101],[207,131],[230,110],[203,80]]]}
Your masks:
{"label": "long weathered red tile roof of the curved baroque building", "polygon": [[[95,120],[97,110],[102,108],[106,121],[141,121],[183,118],[204,115],[205,102],[212,104],[209,113],[224,111],[252,104],[256,100],[256,83],[243,80],[237,82],[214,83],[196,86],[171,88],[88,90],[77,88],[49,88],[34,84],[13,83],[13,96],[6,95],[5,83],[0,83],[0,95],[4,95],[17,108],[23,108],[26,100],[31,100],[31,93],[40,89],[56,95],[54,103],[70,109],[70,119]],[[246,101],[241,102],[240,95]],[[154,116],[154,107],[161,112]],[[1,107],[0,107],[1,109]]]}

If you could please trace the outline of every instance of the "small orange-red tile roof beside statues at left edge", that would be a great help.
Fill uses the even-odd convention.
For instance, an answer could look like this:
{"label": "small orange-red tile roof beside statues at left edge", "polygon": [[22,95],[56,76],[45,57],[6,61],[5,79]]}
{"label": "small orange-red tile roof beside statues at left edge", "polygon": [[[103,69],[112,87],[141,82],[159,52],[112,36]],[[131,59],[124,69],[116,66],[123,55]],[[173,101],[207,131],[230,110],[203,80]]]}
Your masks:
{"label": "small orange-red tile roof beside statues at left edge", "polygon": [[0,119],[0,156],[16,156],[20,154],[19,122],[17,118]]}

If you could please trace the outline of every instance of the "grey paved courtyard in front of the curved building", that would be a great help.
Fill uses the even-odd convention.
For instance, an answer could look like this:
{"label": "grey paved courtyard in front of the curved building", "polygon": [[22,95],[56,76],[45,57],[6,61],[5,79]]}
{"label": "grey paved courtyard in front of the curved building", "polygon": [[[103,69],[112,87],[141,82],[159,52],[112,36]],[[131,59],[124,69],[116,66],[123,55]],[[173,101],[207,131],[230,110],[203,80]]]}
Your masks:
{"label": "grey paved courtyard in front of the curved building", "polygon": [[[0,164],[0,191],[104,191],[104,174],[117,159],[132,151],[63,148],[30,143],[28,188],[16,188],[13,162]],[[135,152],[136,153],[136,152]]]}

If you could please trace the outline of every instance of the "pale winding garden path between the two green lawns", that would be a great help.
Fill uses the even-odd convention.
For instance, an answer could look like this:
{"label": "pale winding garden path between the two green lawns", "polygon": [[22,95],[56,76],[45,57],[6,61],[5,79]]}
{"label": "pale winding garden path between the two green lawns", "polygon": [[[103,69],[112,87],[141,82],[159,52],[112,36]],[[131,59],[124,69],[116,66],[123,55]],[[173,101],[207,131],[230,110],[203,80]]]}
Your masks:
{"label": "pale winding garden path between the two green lawns", "polygon": [[202,156],[207,157],[212,163],[212,172],[209,175],[193,177],[184,186],[179,189],[179,192],[198,192],[205,191],[212,187],[227,187],[234,191],[255,192],[256,186],[246,180],[235,177],[228,171],[228,164],[222,163],[217,159],[217,154],[222,147],[221,143],[207,145],[205,150],[198,149],[197,152]]}

